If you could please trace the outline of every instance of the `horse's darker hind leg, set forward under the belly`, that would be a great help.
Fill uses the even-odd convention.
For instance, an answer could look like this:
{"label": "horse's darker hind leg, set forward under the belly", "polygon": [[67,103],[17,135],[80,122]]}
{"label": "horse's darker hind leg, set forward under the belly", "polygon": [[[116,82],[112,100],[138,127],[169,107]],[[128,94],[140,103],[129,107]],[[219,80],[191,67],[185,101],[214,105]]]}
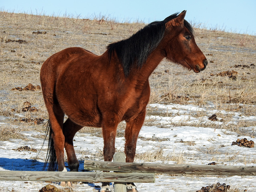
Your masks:
{"label": "horse's darker hind leg, set forward under the belly", "polygon": [[78,171],[79,168],[79,162],[76,158],[74,150],[73,138],[76,132],[78,132],[78,130],[80,130],[81,128],[82,126],[75,124],[69,118],[63,124],[63,133],[65,136],[65,150],[68,156],[68,167],[70,168],[70,171]]}

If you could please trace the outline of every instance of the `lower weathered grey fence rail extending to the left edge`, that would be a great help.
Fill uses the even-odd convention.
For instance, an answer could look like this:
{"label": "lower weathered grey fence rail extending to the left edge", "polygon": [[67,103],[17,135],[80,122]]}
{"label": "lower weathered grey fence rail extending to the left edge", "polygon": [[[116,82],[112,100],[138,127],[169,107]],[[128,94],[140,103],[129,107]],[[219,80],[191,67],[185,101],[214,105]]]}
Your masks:
{"label": "lower weathered grey fence rail extending to the left edge", "polygon": [[155,174],[113,172],[0,171],[0,180],[71,182],[155,182]]}

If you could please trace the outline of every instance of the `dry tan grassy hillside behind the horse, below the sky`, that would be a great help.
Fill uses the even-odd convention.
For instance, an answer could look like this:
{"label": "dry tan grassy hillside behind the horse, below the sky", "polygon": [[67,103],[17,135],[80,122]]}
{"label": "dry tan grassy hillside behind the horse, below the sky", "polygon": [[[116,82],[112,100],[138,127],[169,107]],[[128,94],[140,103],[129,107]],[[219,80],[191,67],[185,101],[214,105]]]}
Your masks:
{"label": "dry tan grassy hillside behind the horse, below the sky", "polygon": [[[10,136],[6,128],[48,118],[40,88],[23,90],[29,84],[40,86],[40,68],[48,57],[74,46],[100,55],[108,44],[128,38],[144,26],[103,18],[88,20],[0,12],[0,116],[1,122],[8,123],[0,127],[1,140]],[[150,103],[203,106],[212,102],[218,110],[255,115],[256,36],[195,28],[195,38],[208,59],[206,70],[195,74],[163,60],[150,76]],[[24,102],[36,110],[22,112]],[[28,120],[22,121],[17,112],[25,114]],[[35,129],[40,129],[34,124]],[[255,124],[246,122],[246,126]]]}

